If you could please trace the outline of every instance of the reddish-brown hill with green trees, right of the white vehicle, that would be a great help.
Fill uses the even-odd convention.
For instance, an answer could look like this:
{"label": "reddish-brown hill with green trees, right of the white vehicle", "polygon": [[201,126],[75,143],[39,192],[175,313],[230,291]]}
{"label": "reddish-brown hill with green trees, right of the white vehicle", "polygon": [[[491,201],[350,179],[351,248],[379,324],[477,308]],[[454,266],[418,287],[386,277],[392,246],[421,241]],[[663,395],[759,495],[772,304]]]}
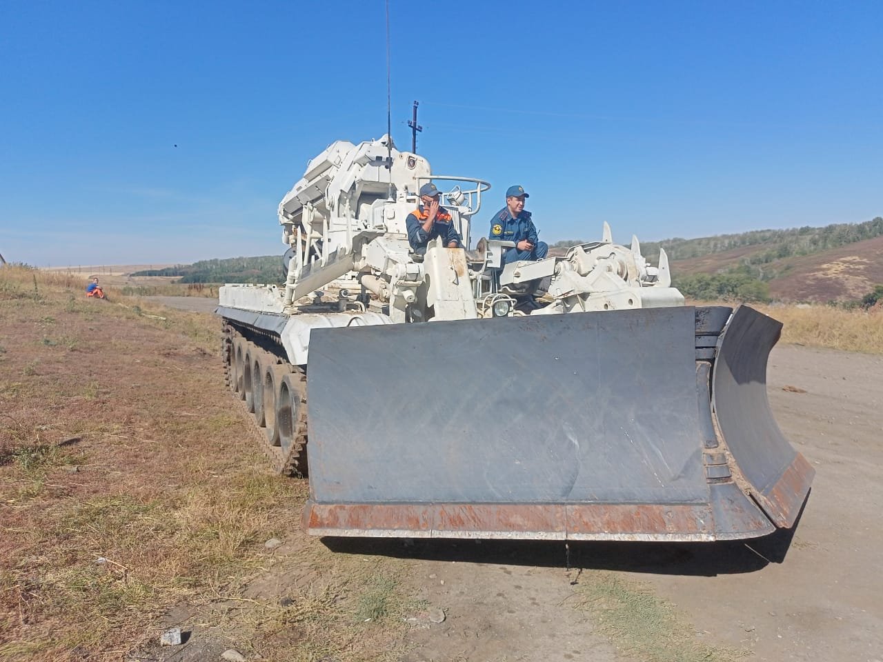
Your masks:
{"label": "reddish-brown hill with green trees, right of the white vehicle", "polygon": [[[566,246],[553,246],[561,254]],[[665,248],[672,279],[697,298],[855,301],[883,283],[883,218],[824,228],[761,229],[641,244],[651,262]]]}

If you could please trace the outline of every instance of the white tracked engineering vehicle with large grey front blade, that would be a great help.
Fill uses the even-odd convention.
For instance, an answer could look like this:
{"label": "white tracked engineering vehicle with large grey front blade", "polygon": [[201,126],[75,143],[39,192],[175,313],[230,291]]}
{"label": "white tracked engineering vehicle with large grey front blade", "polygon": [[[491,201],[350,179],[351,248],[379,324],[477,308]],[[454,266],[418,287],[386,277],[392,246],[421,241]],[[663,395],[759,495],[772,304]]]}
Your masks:
{"label": "white tracked engineering vehicle with large grey front blade", "polygon": [[221,290],[230,390],[275,470],[308,473],[310,533],[716,540],[793,526],[813,470],[766,400],[779,322],[683,305],[665,252],[653,267],[607,224],[536,262],[504,265],[512,244],[487,239],[415,254],[405,219],[429,181],[472,245],[487,182],[434,175],[387,138],[338,140],[279,205],[283,285]]}

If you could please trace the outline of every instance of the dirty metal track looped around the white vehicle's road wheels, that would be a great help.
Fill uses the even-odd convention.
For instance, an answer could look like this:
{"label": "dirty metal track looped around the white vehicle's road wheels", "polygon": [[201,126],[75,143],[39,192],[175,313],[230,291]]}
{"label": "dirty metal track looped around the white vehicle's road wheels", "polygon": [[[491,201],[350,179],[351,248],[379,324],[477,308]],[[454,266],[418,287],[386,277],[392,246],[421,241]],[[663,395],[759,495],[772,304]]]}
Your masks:
{"label": "dirty metal track looped around the white vehicle's road wheels", "polygon": [[[246,335],[247,334],[247,335]],[[247,345],[251,356],[260,360],[260,365],[275,365],[280,373],[291,375],[292,398],[298,398],[300,406],[291,412],[292,441],[289,448],[271,442],[265,425],[260,425],[253,412],[248,410],[241,394],[241,386],[234,384],[233,347],[241,340]],[[258,328],[248,327],[223,321],[222,357],[224,362],[224,381],[230,388],[231,395],[237,403],[239,412],[248,420],[249,430],[259,448],[267,455],[270,465],[276,473],[285,476],[306,476],[306,373],[297,365],[288,363],[278,336],[269,334]],[[278,395],[278,388],[277,395]],[[278,396],[275,398],[276,410],[279,410]],[[278,414],[277,414],[278,417]],[[278,440],[278,439],[277,439]]]}

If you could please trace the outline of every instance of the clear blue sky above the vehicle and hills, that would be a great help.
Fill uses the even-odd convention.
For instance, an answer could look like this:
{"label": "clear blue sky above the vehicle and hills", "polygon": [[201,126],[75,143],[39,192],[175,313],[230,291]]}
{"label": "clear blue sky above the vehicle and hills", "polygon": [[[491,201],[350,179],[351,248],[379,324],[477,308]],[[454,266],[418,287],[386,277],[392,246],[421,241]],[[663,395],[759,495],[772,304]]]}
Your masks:
{"label": "clear blue sky above the vehicle and hills", "polygon": [[[523,184],[549,242],[883,214],[883,2],[390,12],[398,145],[417,99],[434,171],[488,179],[487,216]],[[281,254],[306,162],[386,131],[385,39],[382,0],[4,0],[0,253]]]}

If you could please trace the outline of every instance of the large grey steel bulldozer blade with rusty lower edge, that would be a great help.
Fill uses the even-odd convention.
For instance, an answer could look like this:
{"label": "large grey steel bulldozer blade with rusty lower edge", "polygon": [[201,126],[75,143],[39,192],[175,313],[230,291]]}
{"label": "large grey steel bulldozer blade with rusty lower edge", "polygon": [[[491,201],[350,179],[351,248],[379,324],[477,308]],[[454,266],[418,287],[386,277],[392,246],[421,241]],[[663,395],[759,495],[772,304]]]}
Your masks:
{"label": "large grey steel bulldozer blade with rusty lower edge", "polygon": [[[736,372],[712,410],[716,343],[751,363],[739,334],[719,340],[728,317],[678,306],[314,330],[306,529],[613,540],[774,531],[749,494],[784,504],[781,480],[764,492],[742,478],[777,474],[767,460],[778,467],[781,451],[740,471],[736,456],[760,438],[729,431],[741,420],[777,432],[766,396],[744,395]],[[766,354],[750,376],[765,366]],[[734,435],[733,452],[715,423]],[[789,457],[794,466],[799,455]]]}

